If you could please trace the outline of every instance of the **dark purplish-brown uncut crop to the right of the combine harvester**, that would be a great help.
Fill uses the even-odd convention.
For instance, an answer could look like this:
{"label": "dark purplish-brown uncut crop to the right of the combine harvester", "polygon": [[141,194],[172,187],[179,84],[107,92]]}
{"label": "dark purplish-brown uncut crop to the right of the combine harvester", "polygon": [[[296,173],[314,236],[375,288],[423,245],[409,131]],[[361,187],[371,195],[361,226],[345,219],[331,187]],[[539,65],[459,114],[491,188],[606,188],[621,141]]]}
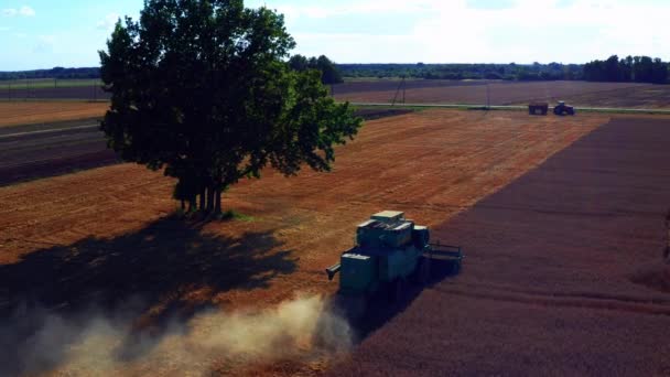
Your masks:
{"label": "dark purplish-brown uncut crop to the right of the combine harvester", "polygon": [[617,117],[435,226],[463,273],[334,375],[668,376],[668,144],[670,120]]}

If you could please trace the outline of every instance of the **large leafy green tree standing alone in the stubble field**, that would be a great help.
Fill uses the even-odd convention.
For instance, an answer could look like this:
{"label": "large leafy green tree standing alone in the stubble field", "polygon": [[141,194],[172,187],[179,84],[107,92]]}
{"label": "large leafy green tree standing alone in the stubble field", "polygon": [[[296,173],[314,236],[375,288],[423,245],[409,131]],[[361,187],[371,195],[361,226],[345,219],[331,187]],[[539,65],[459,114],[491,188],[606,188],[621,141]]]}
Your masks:
{"label": "large leafy green tree standing alone in the stubble field", "polygon": [[267,165],[328,171],[361,120],[317,71],[289,67],[294,45],[281,14],[242,0],[144,1],[99,53],[109,146],[176,177],[182,205],[214,213],[226,188]]}

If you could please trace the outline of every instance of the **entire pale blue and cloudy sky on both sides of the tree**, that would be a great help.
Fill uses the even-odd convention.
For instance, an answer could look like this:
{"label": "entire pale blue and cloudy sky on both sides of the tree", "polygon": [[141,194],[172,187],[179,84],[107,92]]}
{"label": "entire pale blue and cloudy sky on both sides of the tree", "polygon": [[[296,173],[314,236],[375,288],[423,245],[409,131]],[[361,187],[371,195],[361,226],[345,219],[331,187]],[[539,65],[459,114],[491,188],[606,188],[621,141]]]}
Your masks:
{"label": "entire pale blue and cloudy sky on both sides of the tree", "polygon": [[[285,14],[294,53],[338,63],[670,60],[668,0],[247,0]],[[0,71],[97,66],[142,0],[0,0]]]}

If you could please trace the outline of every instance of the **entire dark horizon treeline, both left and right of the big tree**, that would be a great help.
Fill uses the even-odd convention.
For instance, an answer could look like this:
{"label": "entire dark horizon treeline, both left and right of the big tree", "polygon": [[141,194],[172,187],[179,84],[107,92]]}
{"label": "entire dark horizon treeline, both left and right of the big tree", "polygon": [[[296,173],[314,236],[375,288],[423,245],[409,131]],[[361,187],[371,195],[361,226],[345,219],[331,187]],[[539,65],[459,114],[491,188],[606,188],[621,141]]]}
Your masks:
{"label": "entire dark horizon treeline, both left and right of the big tree", "polygon": [[[288,62],[295,71],[316,69],[323,84],[338,84],[344,78],[408,77],[425,79],[502,79],[502,80],[591,80],[662,84],[670,80],[670,64],[649,56],[613,55],[586,64],[335,64],[328,57],[293,55]],[[99,78],[100,68],[35,69],[0,72],[0,80],[23,78]]]}

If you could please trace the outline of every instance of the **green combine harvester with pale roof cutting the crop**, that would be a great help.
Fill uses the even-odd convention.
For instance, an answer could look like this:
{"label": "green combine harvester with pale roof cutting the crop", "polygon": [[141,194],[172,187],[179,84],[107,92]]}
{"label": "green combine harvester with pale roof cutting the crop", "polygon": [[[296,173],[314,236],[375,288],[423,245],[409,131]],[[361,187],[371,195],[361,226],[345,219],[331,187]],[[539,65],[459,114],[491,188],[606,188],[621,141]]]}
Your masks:
{"label": "green combine harvester with pale roof cutting the crop", "polygon": [[425,284],[433,260],[443,261],[452,274],[461,270],[461,247],[430,243],[428,227],[406,219],[402,212],[375,214],[356,229],[356,246],[326,269],[328,280],[337,272],[339,290],[335,304],[349,319],[365,314],[368,301],[378,293],[398,302],[408,281]]}

